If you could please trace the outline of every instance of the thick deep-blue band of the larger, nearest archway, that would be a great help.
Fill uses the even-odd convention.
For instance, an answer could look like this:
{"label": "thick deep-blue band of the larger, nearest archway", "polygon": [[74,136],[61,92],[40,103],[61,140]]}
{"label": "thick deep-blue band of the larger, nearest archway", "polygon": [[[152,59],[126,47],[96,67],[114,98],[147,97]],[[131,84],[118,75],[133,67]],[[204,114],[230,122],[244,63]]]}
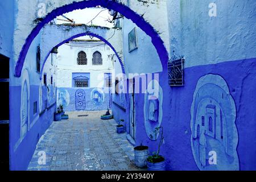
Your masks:
{"label": "thick deep-blue band of the larger, nearest archway", "polygon": [[139,28],[141,28],[148,36],[151,37],[152,44],[155,46],[156,51],[158,52],[162,66],[166,67],[168,62],[168,52],[166,47],[164,47],[163,40],[154,30],[154,27],[152,27],[151,24],[147,23],[141,15],[135,13],[129,7],[122,5],[118,2],[109,0],[88,0],[73,2],[69,5],[59,7],[46,15],[42,22],[38,23],[38,25],[31,31],[30,35],[28,35],[26,42],[22,47],[22,51],[20,52],[19,59],[15,67],[15,76],[20,77],[28,49],[30,48],[32,41],[39,34],[40,30],[44,27],[45,24],[56,18],[56,16],[63,15],[77,9],[85,9],[96,6],[101,6],[107,9],[117,11],[124,15],[127,19],[131,19]]}

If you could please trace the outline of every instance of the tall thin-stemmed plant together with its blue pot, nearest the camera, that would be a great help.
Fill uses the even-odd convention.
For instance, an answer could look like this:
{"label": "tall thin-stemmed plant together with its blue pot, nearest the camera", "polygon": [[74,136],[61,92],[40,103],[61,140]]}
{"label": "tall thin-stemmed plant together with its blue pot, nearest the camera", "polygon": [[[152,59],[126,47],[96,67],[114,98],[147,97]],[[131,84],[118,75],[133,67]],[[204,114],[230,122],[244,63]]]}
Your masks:
{"label": "tall thin-stemmed plant together with its blue pot, nearest the camera", "polygon": [[166,167],[166,162],[165,159],[162,155],[159,155],[160,153],[160,147],[163,144],[163,127],[156,127],[155,128],[155,138],[157,136],[157,134],[161,133],[161,138],[160,138],[160,142],[158,145],[158,151],[155,153],[153,153],[153,155],[148,156],[147,158],[147,169],[148,171],[164,171],[165,167]]}

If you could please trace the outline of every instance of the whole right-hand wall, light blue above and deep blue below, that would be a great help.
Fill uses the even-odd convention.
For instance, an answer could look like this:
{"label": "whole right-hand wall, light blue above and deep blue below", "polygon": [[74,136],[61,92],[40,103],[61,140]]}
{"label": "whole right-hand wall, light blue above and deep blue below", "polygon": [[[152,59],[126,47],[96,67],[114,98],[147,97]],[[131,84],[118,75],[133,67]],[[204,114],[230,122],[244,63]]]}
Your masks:
{"label": "whole right-hand wall, light blue above and deep blue below", "polygon": [[[256,85],[255,85],[255,1],[216,1],[217,17],[209,17],[208,5],[211,1],[168,1],[170,11],[170,52],[185,56],[185,86],[168,85],[167,64],[163,63],[160,73],[160,86],[163,89],[164,144],[160,154],[164,155],[168,170],[199,170],[191,146],[191,105],[193,94],[199,79],[208,74],[219,75],[228,85],[230,96],[235,103],[237,150],[239,164],[230,161],[230,165],[216,166],[217,169],[255,170],[256,154]],[[237,16],[239,15],[239,16]],[[215,19],[214,19],[215,18]],[[129,32],[129,27],[124,32]],[[140,35],[138,35],[140,36]],[[146,42],[146,41],[145,41]],[[133,63],[134,56],[127,52],[124,44],[125,61]],[[150,49],[145,50],[147,55]],[[136,59],[143,59],[137,54]],[[147,65],[154,64],[150,59]],[[147,71],[142,68],[141,72]],[[213,80],[214,81],[214,80]],[[209,90],[210,92],[210,90]],[[144,94],[136,94],[136,144],[141,142],[150,147],[150,152],[157,150],[157,141],[150,140],[144,125]],[[230,114],[230,113],[228,113]],[[226,117],[229,117],[226,116]],[[233,132],[232,128],[227,129]],[[236,142],[234,142],[236,145]],[[220,154],[217,151],[217,155]],[[235,154],[237,153],[237,154]],[[217,156],[222,159],[223,156]],[[237,168],[238,167],[238,168]],[[208,168],[205,168],[207,170]]]}

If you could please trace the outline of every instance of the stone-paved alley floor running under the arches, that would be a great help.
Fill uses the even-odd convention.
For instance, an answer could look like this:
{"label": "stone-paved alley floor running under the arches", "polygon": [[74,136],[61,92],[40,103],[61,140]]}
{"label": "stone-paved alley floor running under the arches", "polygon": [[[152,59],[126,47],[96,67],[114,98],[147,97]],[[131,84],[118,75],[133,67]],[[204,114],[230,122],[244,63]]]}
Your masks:
{"label": "stone-paved alley floor running under the arches", "polygon": [[[134,165],[126,133],[115,132],[114,119],[101,120],[104,113],[69,113],[68,120],[53,122],[40,138],[28,170],[142,170]],[[88,116],[77,117],[84,114]],[[45,165],[38,163],[39,151],[46,152]]]}

